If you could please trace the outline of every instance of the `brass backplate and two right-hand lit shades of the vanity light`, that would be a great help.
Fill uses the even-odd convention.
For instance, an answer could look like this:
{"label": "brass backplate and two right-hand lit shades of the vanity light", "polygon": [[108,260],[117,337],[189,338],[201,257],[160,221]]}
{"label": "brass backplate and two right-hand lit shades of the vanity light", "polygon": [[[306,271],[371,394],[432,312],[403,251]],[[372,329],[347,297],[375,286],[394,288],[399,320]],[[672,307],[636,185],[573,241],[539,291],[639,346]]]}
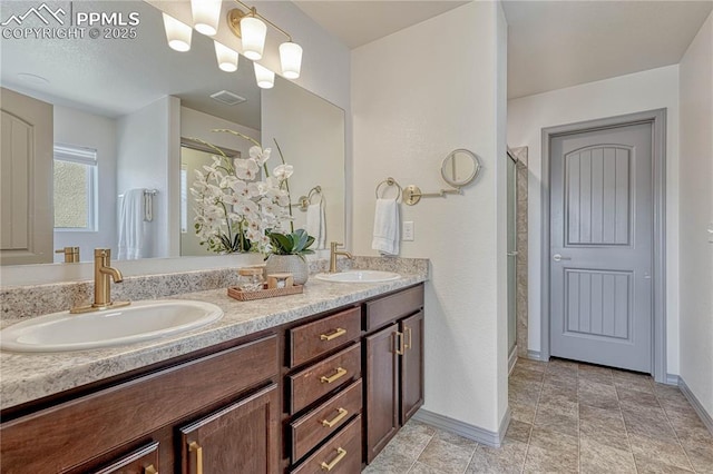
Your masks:
{"label": "brass backplate and two right-hand lit shades of the vanity light", "polygon": [[[241,38],[243,55],[253,61],[262,59],[267,34],[267,26],[265,23],[267,23],[287,38],[287,41],[280,45],[282,75],[287,79],[299,78],[302,67],[302,48],[300,45],[292,40],[290,33],[260,14],[255,7],[247,7],[240,0],[235,0],[235,2],[245,8],[246,11],[240,8],[229,10],[227,12],[227,24],[233,33]],[[255,70],[257,71],[257,69]]]}

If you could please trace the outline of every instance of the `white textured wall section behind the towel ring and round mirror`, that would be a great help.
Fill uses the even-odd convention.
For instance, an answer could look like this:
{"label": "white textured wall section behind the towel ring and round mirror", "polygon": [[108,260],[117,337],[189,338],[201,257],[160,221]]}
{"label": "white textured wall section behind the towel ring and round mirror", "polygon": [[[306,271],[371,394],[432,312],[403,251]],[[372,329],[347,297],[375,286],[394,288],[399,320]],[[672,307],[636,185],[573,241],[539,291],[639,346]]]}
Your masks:
{"label": "white textured wall section behind the towel ring and round mirror", "polygon": [[416,223],[416,240],[402,243],[401,256],[431,259],[424,408],[491,432],[507,406],[507,387],[499,393],[507,381],[505,264],[497,257],[505,198],[496,200],[505,186],[496,165],[505,165],[497,142],[498,120],[505,120],[496,100],[504,109],[500,28],[498,3],[471,2],[352,51],[356,254],[375,255],[379,181],[392,176],[402,186],[436,190],[445,185],[441,159],[452,149],[468,148],[482,160],[462,196],[402,206],[402,220]]}

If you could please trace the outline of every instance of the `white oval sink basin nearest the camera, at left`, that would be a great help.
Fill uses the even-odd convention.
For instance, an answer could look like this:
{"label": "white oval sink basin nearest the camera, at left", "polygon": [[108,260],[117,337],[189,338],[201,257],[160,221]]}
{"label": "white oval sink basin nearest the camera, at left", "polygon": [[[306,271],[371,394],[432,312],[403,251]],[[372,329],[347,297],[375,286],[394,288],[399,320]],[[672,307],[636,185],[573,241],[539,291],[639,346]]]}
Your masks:
{"label": "white oval sink basin nearest the camera, at left", "polygon": [[155,339],[195,329],[223,317],[203,302],[150,300],[96,313],[39,316],[0,330],[0,348],[13,352],[92,349]]}

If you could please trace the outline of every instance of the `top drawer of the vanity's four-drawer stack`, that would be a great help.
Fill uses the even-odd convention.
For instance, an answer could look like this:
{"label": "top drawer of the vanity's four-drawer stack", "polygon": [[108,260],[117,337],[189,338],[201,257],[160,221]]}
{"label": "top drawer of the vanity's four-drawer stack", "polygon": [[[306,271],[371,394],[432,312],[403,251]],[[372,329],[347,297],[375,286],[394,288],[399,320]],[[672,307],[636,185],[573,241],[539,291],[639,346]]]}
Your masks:
{"label": "top drawer of the vanity's four-drawer stack", "polygon": [[290,367],[312,361],[361,336],[361,310],[346,309],[290,329]]}

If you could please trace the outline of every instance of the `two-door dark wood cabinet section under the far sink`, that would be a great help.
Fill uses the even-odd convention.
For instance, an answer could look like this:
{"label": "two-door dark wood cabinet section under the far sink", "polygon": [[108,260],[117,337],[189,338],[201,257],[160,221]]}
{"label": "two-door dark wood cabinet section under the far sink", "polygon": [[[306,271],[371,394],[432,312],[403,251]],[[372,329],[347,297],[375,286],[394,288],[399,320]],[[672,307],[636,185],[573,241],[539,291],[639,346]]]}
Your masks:
{"label": "two-door dark wood cabinet section under the far sink", "polygon": [[[423,405],[423,286],[364,305],[365,457],[371,463]],[[387,326],[383,326],[387,324]]]}

